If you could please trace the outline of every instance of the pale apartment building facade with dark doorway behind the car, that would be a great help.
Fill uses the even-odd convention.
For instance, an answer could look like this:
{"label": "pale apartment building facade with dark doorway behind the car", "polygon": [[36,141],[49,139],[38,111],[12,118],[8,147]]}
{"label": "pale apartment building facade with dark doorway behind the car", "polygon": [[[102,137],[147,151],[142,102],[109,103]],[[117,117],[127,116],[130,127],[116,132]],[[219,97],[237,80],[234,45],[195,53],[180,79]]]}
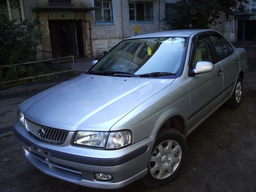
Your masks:
{"label": "pale apartment building facade with dark doorway behind the car", "polygon": [[[123,38],[168,30],[166,13],[176,0],[2,0],[11,19],[41,18],[44,59],[59,53],[80,57],[102,56]],[[238,9],[230,22],[221,18],[213,27],[230,41],[246,41],[248,27],[255,35],[256,0]],[[240,8],[241,9],[241,8]],[[247,12],[246,12],[247,11]],[[248,15],[249,14],[249,15]],[[248,22],[248,20],[250,22]],[[240,29],[242,28],[242,29]]]}

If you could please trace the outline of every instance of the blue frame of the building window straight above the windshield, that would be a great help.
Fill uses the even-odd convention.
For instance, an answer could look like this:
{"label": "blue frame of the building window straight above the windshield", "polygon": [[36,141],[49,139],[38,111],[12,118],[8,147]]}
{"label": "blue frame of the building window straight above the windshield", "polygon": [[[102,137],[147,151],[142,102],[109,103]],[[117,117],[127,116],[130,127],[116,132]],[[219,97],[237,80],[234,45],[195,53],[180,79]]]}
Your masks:
{"label": "blue frame of the building window straight above the windshield", "polygon": [[[133,7],[131,6],[133,5]],[[140,15],[139,6],[143,5],[144,16]],[[148,9],[149,8],[149,9]],[[132,15],[133,13],[133,15]],[[144,17],[144,20],[139,18]],[[150,20],[148,19],[150,18]],[[129,1],[129,22],[130,23],[154,23],[153,2],[131,2]]]}

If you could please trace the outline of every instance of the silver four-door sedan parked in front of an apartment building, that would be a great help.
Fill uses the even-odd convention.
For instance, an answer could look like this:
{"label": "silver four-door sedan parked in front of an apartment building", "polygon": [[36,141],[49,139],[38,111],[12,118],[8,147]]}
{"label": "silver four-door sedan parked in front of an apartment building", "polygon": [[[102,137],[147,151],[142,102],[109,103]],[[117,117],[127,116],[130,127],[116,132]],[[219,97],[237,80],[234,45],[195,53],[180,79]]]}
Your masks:
{"label": "silver four-door sedan parked in front of an apartment building", "polygon": [[227,103],[237,108],[245,50],[207,29],[137,35],[90,70],[18,108],[14,133],[32,165],[87,187],[172,181],[185,138]]}

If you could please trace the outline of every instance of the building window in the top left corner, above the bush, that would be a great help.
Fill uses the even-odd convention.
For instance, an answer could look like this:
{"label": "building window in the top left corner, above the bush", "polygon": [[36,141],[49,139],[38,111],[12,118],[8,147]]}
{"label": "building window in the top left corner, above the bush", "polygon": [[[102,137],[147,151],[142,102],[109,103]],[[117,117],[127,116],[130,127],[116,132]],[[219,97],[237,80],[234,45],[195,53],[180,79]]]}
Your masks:
{"label": "building window in the top left corner, above the bush", "polygon": [[25,20],[22,0],[0,0],[0,6],[5,9],[10,20],[16,20],[17,23]]}

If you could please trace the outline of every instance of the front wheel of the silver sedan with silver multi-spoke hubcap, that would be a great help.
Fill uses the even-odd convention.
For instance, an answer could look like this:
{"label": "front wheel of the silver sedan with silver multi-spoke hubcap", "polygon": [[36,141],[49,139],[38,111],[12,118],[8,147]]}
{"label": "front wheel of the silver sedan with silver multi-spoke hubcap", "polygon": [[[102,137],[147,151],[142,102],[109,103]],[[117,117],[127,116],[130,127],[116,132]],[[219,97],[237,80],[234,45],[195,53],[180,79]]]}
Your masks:
{"label": "front wheel of the silver sedan with silver multi-spoke hubcap", "polygon": [[187,157],[187,142],[177,130],[169,128],[157,134],[148,163],[148,174],[142,182],[150,187],[172,181],[184,165]]}

